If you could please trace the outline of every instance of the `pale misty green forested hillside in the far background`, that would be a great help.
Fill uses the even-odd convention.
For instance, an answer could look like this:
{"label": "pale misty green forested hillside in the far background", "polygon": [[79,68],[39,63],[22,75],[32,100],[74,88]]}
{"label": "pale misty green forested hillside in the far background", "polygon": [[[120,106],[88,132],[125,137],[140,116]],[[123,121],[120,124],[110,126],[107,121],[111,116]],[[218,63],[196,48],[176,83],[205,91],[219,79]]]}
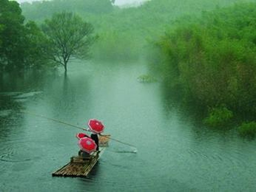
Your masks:
{"label": "pale misty green forested hillside in the far background", "polygon": [[37,23],[55,12],[76,12],[92,23],[99,34],[93,49],[95,59],[129,60],[140,57],[148,40],[154,41],[179,17],[248,1],[151,0],[139,7],[122,9],[113,6],[114,0],[52,0],[23,3],[21,8],[27,20]]}

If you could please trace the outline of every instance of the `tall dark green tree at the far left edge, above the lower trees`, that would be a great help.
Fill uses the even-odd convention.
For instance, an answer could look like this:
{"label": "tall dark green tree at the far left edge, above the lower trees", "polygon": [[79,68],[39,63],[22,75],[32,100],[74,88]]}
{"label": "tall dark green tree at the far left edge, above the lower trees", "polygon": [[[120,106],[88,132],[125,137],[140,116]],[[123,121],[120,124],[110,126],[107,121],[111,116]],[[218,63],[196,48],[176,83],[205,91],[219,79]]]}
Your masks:
{"label": "tall dark green tree at the far left edge, above the lower trees", "polygon": [[15,1],[0,0],[0,64],[20,67],[23,64],[24,17]]}

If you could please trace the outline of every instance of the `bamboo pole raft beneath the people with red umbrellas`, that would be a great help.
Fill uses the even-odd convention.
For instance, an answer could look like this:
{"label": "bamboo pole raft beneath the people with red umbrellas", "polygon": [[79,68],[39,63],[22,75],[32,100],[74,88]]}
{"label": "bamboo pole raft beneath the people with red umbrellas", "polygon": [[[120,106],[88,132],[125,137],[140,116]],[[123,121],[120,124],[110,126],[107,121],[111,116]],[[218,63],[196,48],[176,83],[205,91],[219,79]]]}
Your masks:
{"label": "bamboo pole raft beneath the people with red umbrellas", "polygon": [[90,157],[72,156],[70,162],[52,173],[53,177],[86,177],[108,147],[110,135],[99,136],[99,151]]}

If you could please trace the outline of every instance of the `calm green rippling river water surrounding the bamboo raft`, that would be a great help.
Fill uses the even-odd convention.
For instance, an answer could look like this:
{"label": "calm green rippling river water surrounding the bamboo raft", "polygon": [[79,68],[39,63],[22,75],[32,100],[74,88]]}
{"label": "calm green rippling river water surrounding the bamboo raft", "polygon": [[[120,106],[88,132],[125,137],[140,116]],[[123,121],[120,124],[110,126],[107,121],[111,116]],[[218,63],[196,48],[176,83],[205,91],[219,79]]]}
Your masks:
{"label": "calm green rippling river water surrounding the bamboo raft", "polygon": [[[48,75],[0,78],[0,191],[255,191],[255,141],[199,127],[160,83],[139,83],[141,63],[69,65]],[[78,151],[80,130],[100,119],[111,141],[88,178],[51,173]]]}

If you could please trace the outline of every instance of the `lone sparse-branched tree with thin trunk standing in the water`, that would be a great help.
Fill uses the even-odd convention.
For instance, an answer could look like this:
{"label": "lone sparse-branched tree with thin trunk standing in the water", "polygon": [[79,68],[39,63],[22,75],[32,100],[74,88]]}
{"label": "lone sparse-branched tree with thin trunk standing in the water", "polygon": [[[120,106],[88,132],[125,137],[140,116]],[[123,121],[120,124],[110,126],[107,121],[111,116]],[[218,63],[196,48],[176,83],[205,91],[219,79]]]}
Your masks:
{"label": "lone sparse-branched tree with thin trunk standing in the water", "polygon": [[71,57],[88,58],[89,47],[94,41],[93,27],[78,15],[56,13],[50,20],[45,20],[43,31],[49,41],[49,59],[64,66],[65,72]]}

